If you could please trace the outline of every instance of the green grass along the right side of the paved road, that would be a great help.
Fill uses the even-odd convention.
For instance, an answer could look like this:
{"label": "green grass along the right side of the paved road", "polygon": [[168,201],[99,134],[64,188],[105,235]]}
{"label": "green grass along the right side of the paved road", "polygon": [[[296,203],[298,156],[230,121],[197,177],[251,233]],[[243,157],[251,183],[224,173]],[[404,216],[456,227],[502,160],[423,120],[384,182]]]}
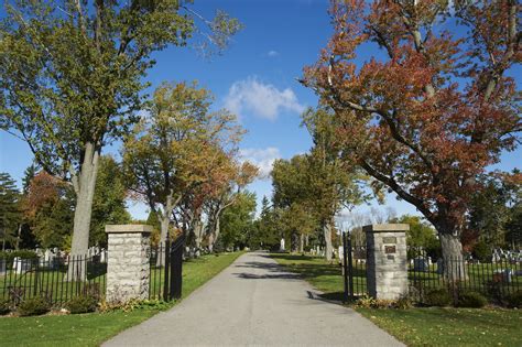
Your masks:
{"label": "green grass along the right side of the paved road", "polygon": [[[325,297],[342,299],[344,282],[337,264],[306,256],[271,256],[323,291]],[[356,310],[409,346],[522,346],[520,310]]]}

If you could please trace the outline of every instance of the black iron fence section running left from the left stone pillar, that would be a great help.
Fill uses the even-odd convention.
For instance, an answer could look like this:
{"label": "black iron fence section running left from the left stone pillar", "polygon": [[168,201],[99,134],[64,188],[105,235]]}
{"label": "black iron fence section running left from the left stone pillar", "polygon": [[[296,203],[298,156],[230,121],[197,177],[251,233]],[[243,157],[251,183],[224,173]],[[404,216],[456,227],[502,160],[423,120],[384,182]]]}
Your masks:
{"label": "black iron fence section running left from the left stone pillar", "polygon": [[105,295],[107,263],[100,256],[18,258],[0,264],[0,299],[14,304],[34,296],[62,304],[76,296]]}

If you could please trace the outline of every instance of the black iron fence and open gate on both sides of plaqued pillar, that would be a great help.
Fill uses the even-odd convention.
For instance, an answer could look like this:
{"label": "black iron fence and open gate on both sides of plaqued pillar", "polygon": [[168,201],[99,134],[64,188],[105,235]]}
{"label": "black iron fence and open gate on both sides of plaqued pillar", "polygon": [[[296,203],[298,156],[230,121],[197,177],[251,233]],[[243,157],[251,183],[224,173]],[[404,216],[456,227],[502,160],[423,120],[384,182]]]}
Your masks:
{"label": "black iron fence and open gate on both sides of plaqued pillar", "polygon": [[[344,235],[345,300],[368,294],[367,248]],[[450,293],[479,292],[492,302],[522,290],[520,259],[501,258],[480,262],[465,258],[433,259],[425,250],[409,247],[407,279],[410,296],[422,302],[433,290]],[[448,275],[450,273],[452,275]],[[449,280],[450,279],[450,280]]]}

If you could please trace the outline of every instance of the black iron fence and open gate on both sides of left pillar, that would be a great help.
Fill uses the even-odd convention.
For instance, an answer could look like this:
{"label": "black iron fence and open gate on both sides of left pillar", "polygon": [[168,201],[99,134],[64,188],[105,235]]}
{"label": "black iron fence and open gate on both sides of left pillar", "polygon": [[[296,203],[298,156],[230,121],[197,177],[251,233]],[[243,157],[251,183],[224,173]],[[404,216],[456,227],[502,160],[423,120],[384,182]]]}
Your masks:
{"label": "black iron fence and open gate on both sides of left pillar", "polygon": [[[171,301],[182,296],[182,262],[185,237],[151,248],[149,299]],[[110,257],[110,254],[108,254]],[[107,263],[100,256],[44,259],[0,259],[0,299],[13,304],[46,297],[64,304],[76,296],[105,296]]]}

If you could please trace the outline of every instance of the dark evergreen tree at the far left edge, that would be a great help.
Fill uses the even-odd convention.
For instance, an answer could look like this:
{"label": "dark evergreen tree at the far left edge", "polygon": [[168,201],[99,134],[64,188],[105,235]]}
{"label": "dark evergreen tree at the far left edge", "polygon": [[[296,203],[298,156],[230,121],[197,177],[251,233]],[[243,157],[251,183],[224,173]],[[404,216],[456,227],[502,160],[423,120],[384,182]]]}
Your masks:
{"label": "dark evergreen tree at the far left edge", "polygon": [[22,221],[20,210],[20,192],[17,183],[8,173],[0,173],[0,237],[2,250],[6,245],[17,243],[18,228]]}

